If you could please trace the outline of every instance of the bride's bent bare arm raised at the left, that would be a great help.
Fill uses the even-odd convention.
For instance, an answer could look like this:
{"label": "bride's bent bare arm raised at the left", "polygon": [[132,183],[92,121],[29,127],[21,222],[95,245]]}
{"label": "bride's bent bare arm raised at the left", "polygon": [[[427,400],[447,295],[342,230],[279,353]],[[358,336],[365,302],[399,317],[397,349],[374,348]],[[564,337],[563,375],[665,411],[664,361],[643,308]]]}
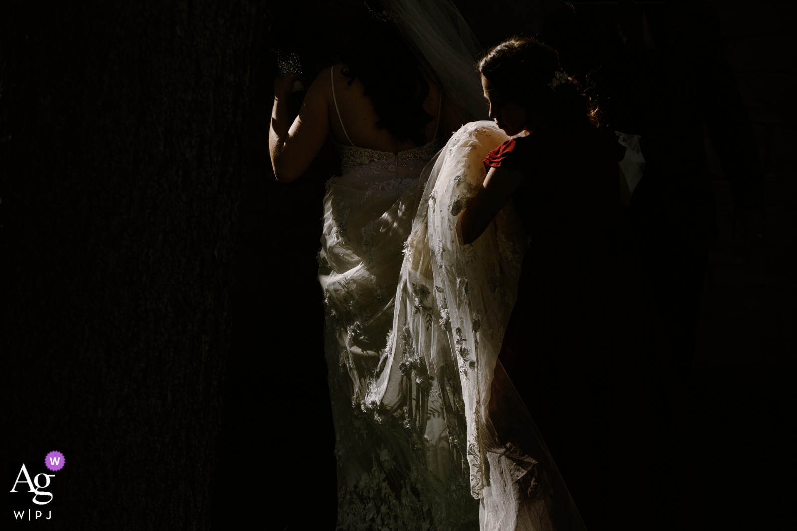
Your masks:
{"label": "bride's bent bare arm raised at the left", "polygon": [[269,151],[274,176],[279,182],[291,182],[307,170],[329,134],[329,76],[324,70],[312,82],[304,96],[299,115],[289,123],[288,96],[300,75],[274,80],[274,107],[269,130]]}

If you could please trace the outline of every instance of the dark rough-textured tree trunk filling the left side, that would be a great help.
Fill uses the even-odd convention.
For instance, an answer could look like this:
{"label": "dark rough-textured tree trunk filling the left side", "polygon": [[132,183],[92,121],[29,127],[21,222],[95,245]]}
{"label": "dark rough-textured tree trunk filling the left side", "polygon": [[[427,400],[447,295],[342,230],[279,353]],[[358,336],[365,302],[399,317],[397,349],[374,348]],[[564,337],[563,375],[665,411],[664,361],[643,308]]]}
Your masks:
{"label": "dark rough-textured tree trunk filling the left side", "polygon": [[0,10],[3,455],[69,461],[27,525],[209,525],[258,7]]}

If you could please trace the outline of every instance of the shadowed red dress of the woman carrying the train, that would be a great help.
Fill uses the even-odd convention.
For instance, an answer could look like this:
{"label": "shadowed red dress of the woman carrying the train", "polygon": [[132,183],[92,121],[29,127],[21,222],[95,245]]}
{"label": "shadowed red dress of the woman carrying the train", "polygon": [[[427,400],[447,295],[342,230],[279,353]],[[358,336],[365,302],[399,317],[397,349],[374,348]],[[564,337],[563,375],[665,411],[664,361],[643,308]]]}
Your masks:
{"label": "shadowed red dress of the woman carrying the train", "polygon": [[485,165],[524,174],[512,201],[530,238],[499,360],[587,529],[652,529],[666,365],[625,251],[611,140],[544,130]]}

